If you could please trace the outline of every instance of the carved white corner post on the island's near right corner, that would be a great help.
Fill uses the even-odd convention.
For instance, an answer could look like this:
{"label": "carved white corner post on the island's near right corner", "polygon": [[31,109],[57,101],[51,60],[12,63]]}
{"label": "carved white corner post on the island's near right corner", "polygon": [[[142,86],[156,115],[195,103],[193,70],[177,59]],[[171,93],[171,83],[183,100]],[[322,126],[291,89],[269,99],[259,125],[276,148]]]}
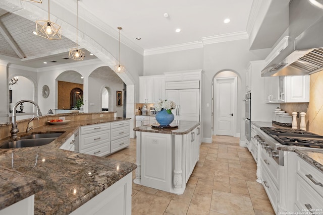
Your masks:
{"label": "carved white corner post on the island's near right corner", "polygon": [[182,136],[175,135],[174,190],[182,189]]}

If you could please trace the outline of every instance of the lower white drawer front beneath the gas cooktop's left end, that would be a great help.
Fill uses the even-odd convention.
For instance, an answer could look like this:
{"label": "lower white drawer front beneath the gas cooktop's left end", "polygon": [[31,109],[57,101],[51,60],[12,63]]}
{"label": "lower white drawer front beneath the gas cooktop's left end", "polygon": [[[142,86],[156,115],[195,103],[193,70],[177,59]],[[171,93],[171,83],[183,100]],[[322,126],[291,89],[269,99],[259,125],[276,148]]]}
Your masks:
{"label": "lower white drawer front beneath the gas cooktop's left end", "polygon": [[277,212],[277,201],[278,201],[278,188],[274,184],[272,178],[269,176],[267,171],[265,169],[261,169],[261,180],[262,185],[268,195],[269,200],[272,203],[272,206],[275,210],[275,213]]}

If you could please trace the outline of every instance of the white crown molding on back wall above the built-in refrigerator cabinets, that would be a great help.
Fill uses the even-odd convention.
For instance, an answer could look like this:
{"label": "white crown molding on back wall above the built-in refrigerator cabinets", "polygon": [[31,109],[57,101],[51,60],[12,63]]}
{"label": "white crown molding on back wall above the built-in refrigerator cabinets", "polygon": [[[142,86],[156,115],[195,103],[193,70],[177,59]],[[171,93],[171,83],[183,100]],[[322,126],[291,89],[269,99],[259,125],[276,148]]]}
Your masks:
{"label": "white crown molding on back wall above the built-in refrigerator cabinets", "polygon": [[189,49],[195,49],[195,48],[203,48],[202,42],[196,41],[196,42],[190,42],[190,43],[182,43],[178,45],[145,49],[143,55],[146,56],[146,55],[153,55],[153,54],[163,54],[168,52],[183,51],[183,50],[189,50]]}

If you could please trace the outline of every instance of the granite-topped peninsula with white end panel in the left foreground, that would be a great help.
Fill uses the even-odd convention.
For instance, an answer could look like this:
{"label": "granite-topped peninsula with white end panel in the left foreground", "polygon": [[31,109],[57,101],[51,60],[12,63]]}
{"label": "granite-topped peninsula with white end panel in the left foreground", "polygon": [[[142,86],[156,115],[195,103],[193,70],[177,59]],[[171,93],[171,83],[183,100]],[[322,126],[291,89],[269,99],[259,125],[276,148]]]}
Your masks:
{"label": "granite-topped peninsula with white end panel in the left foreground", "polygon": [[[92,214],[106,208],[114,214],[131,214],[131,180],[135,164],[59,149],[72,135],[78,133],[80,126],[127,120],[110,114],[104,113],[102,117],[103,113],[67,114],[64,115],[66,118],[75,121],[61,125],[45,122],[63,115],[41,116],[39,126],[31,133],[64,133],[48,145],[0,149],[2,179],[12,181],[17,177],[26,177],[29,181],[35,181],[23,186],[14,187],[14,183],[9,183],[10,186],[2,187],[0,209],[9,206],[5,202],[15,203],[34,191],[35,214]],[[18,126],[24,122],[18,121]],[[9,131],[4,127],[6,125],[1,126],[3,130]],[[18,133],[20,136],[25,134]],[[0,139],[0,146],[8,138]],[[2,177],[2,174],[6,174],[6,177]],[[37,184],[38,189],[35,188]],[[20,195],[11,195],[14,191]]]}

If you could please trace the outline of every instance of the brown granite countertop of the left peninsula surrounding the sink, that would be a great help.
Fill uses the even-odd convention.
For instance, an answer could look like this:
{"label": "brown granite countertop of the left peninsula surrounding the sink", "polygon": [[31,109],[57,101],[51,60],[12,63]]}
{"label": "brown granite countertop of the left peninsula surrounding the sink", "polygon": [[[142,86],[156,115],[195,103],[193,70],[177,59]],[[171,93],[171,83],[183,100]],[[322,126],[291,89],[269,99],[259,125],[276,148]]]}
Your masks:
{"label": "brown granite countertop of the left peninsula surrounding the sink", "polygon": [[[125,118],[46,124],[30,133],[65,133],[41,147],[0,149],[0,209],[35,193],[35,214],[68,214],[135,170],[133,163],[59,149],[81,125],[118,120]],[[19,133],[22,134],[26,133]],[[1,139],[0,145],[8,139]],[[19,193],[19,198],[14,192]]]}

